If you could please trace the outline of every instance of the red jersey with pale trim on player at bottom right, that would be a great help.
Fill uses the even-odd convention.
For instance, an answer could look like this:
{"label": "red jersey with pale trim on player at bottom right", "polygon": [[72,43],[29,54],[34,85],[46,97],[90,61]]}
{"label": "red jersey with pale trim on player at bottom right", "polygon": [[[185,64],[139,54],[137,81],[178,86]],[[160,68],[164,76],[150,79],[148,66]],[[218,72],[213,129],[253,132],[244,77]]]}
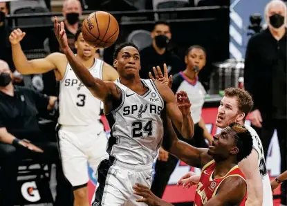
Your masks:
{"label": "red jersey with pale trim on player at bottom right", "polygon": [[[194,206],[203,206],[210,200],[213,196],[216,195],[217,189],[219,189],[219,185],[225,178],[230,176],[239,176],[246,181],[246,177],[243,175],[242,171],[239,169],[238,165],[234,166],[228,174],[223,176],[222,178],[212,179],[212,174],[215,169],[214,160],[208,162],[203,169],[201,170],[201,179],[198,182],[198,186],[196,188],[196,194],[194,198]],[[247,191],[239,206],[244,206],[246,203]]]}

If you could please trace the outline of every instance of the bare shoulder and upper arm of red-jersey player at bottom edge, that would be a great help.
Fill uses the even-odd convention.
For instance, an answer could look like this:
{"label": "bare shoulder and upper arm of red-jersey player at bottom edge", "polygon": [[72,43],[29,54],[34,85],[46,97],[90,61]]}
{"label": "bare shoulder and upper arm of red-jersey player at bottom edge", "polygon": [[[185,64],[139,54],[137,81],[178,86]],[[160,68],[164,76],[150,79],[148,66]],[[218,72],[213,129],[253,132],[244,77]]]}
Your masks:
{"label": "bare shoulder and upper arm of red-jersey player at bottom edge", "polygon": [[239,176],[223,180],[215,196],[205,206],[239,205],[246,194],[246,181]]}

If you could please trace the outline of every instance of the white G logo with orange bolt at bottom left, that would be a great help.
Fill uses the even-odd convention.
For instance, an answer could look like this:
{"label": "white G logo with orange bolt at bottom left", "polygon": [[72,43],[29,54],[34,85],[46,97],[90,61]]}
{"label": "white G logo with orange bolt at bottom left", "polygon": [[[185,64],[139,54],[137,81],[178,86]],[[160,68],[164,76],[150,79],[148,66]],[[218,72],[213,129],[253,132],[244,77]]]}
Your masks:
{"label": "white G logo with orange bolt at bottom left", "polygon": [[21,194],[26,200],[32,203],[35,203],[41,199],[35,181],[25,182],[21,186]]}

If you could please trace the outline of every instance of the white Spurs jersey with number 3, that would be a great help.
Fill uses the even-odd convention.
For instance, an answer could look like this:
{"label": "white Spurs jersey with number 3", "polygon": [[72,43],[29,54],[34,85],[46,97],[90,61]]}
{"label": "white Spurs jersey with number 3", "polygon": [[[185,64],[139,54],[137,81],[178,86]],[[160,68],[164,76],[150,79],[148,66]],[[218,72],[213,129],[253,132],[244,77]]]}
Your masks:
{"label": "white Spurs jersey with number 3", "polygon": [[[104,62],[95,59],[89,68],[93,77],[102,79]],[[77,79],[70,64],[66,66],[66,73],[59,88],[59,124],[68,126],[85,126],[100,120],[101,101]]]}

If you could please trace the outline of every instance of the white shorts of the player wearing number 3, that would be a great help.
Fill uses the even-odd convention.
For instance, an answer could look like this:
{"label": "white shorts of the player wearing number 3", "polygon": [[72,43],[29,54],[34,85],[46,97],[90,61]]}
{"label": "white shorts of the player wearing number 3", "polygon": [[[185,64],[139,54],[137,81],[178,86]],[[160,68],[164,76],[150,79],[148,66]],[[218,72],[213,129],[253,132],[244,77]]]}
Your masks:
{"label": "white shorts of the player wearing number 3", "polygon": [[107,135],[100,126],[62,126],[58,131],[64,175],[73,187],[85,186],[89,181],[88,161],[97,172],[100,162],[109,158]]}

